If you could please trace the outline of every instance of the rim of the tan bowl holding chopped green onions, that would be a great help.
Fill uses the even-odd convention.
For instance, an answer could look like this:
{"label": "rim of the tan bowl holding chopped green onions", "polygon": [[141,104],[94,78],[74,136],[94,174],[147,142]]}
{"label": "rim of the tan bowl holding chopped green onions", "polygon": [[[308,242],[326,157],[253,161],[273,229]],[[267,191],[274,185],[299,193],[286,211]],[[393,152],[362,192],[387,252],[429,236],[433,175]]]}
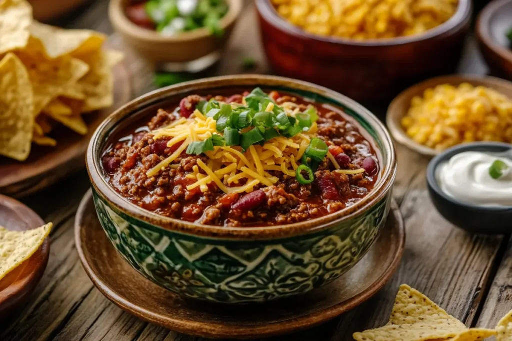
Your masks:
{"label": "rim of the tan bowl holding chopped green onions", "polygon": [[[148,30],[135,25],[124,14],[124,8],[129,0],[110,0],[109,18],[112,25],[124,34],[131,35],[140,40],[148,40],[154,43],[162,42],[182,42],[188,40],[197,40],[205,37],[214,37],[208,29],[202,27],[196,30],[182,32],[173,36],[163,36],[154,30]],[[228,11],[222,17],[220,26],[226,29],[234,24],[242,11],[242,0],[226,0],[228,2]]]}

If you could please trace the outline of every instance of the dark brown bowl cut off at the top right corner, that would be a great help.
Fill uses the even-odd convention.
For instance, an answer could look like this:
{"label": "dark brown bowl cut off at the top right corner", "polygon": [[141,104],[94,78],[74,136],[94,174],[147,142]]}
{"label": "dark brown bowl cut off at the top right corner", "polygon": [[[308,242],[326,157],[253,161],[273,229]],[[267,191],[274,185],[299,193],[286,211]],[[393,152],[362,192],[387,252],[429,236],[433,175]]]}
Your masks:
{"label": "dark brown bowl cut off at the top right corner", "polygon": [[512,44],[505,36],[512,29],[512,0],[495,0],[478,16],[476,34],[490,69],[512,80]]}

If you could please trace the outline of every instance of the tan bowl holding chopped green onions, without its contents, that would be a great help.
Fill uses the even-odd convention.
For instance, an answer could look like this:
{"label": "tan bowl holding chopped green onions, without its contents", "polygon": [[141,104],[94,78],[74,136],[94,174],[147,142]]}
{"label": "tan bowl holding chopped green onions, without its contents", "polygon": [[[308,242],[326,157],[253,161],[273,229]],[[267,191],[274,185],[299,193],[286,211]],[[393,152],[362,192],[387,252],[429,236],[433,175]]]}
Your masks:
{"label": "tan bowl holding chopped green onions, without its contents", "polygon": [[124,41],[148,61],[184,63],[214,54],[218,55],[219,51],[225,47],[242,10],[242,0],[227,0],[227,3],[228,12],[220,21],[220,26],[224,30],[222,37],[212,35],[206,28],[170,37],[141,28],[133,24],[125,15],[129,0],[111,0],[109,18]]}

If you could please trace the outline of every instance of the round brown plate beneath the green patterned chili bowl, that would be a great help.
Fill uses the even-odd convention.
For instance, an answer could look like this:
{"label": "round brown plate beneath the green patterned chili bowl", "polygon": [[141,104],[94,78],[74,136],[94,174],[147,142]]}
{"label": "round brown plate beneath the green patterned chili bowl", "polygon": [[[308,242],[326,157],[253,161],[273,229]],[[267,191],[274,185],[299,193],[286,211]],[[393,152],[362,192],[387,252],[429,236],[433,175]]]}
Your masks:
{"label": "round brown plate beneath the green patterned chili bowl", "polygon": [[139,275],[115,251],[94,210],[91,191],[75,220],[76,248],[94,285],[140,319],[203,337],[257,338],[309,328],[342,314],[376,293],[396,270],[405,229],[393,202],[385,229],[347,274],[300,298],[260,305],[218,305],[183,300]]}

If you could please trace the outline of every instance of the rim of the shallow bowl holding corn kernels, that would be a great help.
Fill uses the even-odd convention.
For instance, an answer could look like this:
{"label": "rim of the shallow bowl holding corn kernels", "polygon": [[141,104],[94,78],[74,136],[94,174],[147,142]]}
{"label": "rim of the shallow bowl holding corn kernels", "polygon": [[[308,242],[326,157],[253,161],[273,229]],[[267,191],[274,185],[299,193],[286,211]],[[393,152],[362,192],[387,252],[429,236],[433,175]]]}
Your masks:
{"label": "rim of the shallow bowl holding corn kernels", "polygon": [[[458,79],[457,81],[455,81]],[[417,143],[413,139],[409,138],[406,132],[403,130],[402,126],[400,125],[400,119],[406,114],[406,112],[400,112],[398,113],[398,109],[396,108],[397,103],[399,100],[402,99],[402,97],[410,96],[411,98],[415,95],[419,94],[419,89],[423,88],[425,84],[431,84],[430,87],[440,85],[440,84],[452,84],[455,83],[460,84],[463,82],[467,82],[470,84],[475,85],[477,82],[486,83],[485,86],[491,87],[491,84],[494,85],[500,85],[503,87],[508,87],[512,91],[512,81],[508,81],[506,79],[492,77],[492,76],[478,76],[473,74],[453,74],[453,75],[445,75],[445,76],[438,76],[426,79],[422,82],[416,83],[407,89],[403,90],[401,93],[399,93],[390,103],[388,106],[388,110],[386,111],[386,125],[388,126],[388,129],[395,139],[396,142],[399,144],[406,146],[407,148],[414,150],[415,152],[418,152],[422,155],[426,156],[436,156],[441,154],[442,150],[436,150],[434,148],[430,148],[427,146],[424,146],[422,144]],[[447,149],[446,149],[447,150]]]}

